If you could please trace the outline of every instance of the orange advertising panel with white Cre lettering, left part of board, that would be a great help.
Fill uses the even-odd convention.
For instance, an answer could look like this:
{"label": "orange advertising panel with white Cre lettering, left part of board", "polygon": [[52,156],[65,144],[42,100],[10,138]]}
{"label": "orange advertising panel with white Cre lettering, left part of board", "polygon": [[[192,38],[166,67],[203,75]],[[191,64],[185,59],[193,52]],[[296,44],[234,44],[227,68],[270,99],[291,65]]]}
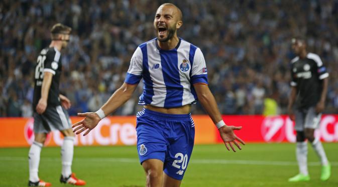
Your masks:
{"label": "orange advertising panel with white Cre lettering, left part of board", "polygon": [[[215,143],[216,134],[212,121],[207,116],[194,116],[195,143]],[[80,121],[82,117],[71,117],[73,123]],[[0,136],[0,147],[29,146],[34,141],[33,118],[0,118],[0,128],[3,135]],[[136,135],[135,116],[114,116],[102,119],[91,132],[83,136],[76,135],[75,145],[135,145]],[[48,134],[45,146],[57,146],[63,142],[63,136],[59,131]]]}

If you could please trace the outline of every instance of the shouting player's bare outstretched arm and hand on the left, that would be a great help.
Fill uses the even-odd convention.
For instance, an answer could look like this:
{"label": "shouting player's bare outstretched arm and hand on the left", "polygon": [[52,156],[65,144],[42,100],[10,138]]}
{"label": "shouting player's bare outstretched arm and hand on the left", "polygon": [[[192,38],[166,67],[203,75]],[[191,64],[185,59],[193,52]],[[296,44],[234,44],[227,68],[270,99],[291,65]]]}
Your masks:
{"label": "shouting player's bare outstretched arm and hand on the left", "polygon": [[97,112],[78,113],[77,115],[84,117],[84,119],[72,126],[73,128],[76,127],[73,132],[79,134],[86,130],[83,135],[87,135],[94,127],[96,127],[102,118],[111,112],[114,112],[128,101],[132,97],[136,88],[137,84],[131,85],[123,83],[123,85],[111,95],[108,101]]}

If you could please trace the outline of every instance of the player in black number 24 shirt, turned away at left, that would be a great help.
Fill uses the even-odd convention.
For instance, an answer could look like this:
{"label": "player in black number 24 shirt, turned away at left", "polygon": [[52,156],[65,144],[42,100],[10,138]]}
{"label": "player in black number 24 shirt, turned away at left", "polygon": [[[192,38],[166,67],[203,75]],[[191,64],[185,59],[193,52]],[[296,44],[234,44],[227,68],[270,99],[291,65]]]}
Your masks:
{"label": "player in black number 24 shirt, turned away at left", "polygon": [[52,42],[43,49],[35,66],[34,86],[34,135],[35,139],[29,150],[29,186],[50,186],[51,183],[40,180],[38,176],[40,152],[51,130],[59,130],[64,135],[61,146],[62,172],[60,182],[84,185],[85,181],[75,177],[71,171],[74,151],[74,133],[65,109],[70,101],[59,93],[59,81],[62,70],[61,49],[69,41],[71,28],[56,24],[51,29]]}

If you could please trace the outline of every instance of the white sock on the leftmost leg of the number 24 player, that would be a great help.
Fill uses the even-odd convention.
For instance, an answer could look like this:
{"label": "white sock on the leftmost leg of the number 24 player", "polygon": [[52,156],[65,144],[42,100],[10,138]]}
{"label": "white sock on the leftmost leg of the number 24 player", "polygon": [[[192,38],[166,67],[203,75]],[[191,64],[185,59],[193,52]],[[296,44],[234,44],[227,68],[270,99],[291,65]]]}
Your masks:
{"label": "white sock on the leftmost leg of the number 24 player", "polygon": [[29,163],[29,180],[32,182],[39,181],[38,171],[40,163],[40,152],[43,144],[34,141],[29,149],[28,163]]}

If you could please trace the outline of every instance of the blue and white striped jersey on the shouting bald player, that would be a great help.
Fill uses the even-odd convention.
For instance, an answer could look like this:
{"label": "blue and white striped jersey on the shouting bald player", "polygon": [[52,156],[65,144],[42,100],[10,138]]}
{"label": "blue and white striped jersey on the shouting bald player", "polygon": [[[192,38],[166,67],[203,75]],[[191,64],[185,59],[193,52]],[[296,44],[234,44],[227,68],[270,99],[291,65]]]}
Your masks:
{"label": "blue and white striped jersey on the shouting bald player", "polygon": [[131,59],[125,82],[138,84],[142,78],[139,104],[164,108],[195,103],[193,84],[208,84],[201,50],[183,39],[172,50],[160,49],[156,38],[141,44]]}

